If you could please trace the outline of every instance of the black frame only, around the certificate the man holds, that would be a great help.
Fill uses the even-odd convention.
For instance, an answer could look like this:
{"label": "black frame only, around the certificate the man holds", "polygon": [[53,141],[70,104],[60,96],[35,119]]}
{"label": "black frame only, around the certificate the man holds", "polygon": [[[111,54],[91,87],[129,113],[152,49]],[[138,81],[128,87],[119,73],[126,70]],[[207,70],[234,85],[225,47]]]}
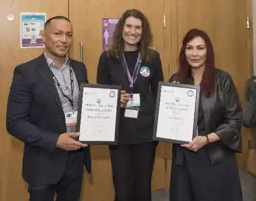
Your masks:
{"label": "black frame only, around the certificate the man holds", "polygon": [[88,84],[88,83],[81,83],[80,85],[80,95],[79,95],[79,104],[77,108],[77,123],[76,123],[76,132],[80,132],[81,128],[81,119],[82,117],[82,106],[83,106],[83,96],[84,96],[84,89],[85,88],[96,88],[96,89],[116,89],[118,90],[118,95],[116,96],[116,116],[115,116],[115,137],[114,141],[81,141],[79,137],[76,138],[77,141],[81,143],[86,143],[88,145],[116,145],[118,143],[118,136],[119,136],[119,117],[120,117],[120,106],[121,106],[121,86],[116,85],[103,85],[103,84]]}

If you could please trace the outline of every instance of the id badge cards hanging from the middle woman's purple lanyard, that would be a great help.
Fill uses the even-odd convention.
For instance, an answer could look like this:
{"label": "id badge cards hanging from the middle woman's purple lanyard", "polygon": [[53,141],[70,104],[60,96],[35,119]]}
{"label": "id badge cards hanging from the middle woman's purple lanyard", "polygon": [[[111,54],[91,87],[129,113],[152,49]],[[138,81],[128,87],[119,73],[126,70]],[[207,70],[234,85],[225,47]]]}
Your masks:
{"label": "id badge cards hanging from the middle woman's purple lanyard", "polygon": [[138,111],[140,110],[140,94],[133,94],[133,100],[127,102],[125,107],[125,117],[138,118]]}

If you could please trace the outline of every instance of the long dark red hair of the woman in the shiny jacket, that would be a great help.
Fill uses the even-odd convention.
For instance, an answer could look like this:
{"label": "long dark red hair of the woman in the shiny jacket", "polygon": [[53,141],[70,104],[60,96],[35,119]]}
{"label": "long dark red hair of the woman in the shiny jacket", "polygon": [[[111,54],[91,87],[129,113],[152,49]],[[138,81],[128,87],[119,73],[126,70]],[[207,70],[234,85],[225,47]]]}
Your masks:
{"label": "long dark red hair of the woman in the shiny jacket", "polygon": [[210,40],[210,37],[207,35],[207,33],[205,33],[204,31],[193,28],[192,30],[188,31],[186,36],[184,37],[179,55],[178,77],[179,81],[184,84],[187,84],[188,78],[191,77],[191,66],[187,62],[185,50],[187,47],[187,43],[196,37],[203,38],[207,49],[205,70],[200,86],[202,94],[204,94],[205,96],[210,96],[215,91],[214,51],[212,41]]}

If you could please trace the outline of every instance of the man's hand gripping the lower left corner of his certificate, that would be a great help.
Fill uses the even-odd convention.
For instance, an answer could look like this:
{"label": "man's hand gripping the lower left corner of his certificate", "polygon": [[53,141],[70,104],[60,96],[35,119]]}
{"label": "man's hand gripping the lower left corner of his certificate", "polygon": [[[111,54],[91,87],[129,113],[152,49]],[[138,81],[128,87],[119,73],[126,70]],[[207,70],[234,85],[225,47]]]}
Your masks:
{"label": "man's hand gripping the lower left corner of his certificate", "polygon": [[79,136],[80,133],[64,133],[59,136],[57,141],[57,147],[65,151],[75,151],[81,147],[87,147],[87,145],[77,142],[74,140],[75,137]]}

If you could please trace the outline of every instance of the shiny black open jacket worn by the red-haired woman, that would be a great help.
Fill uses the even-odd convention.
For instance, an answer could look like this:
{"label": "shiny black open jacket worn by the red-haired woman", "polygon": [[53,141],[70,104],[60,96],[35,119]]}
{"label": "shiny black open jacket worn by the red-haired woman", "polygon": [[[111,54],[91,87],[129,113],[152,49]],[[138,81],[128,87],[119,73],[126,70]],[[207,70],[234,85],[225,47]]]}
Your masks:
{"label": "shiny black open jacket worn by the red-haired woman", "polygon": [[[173,81],[179,81],[177,73],[170,78]],[[242,152],[242,108],[231,76],[220,69],[215,70],[215,93],[201,97],[206,132],[220,137],[220,141],[205,147],[212,164],[216,164],[235,152]]]}

